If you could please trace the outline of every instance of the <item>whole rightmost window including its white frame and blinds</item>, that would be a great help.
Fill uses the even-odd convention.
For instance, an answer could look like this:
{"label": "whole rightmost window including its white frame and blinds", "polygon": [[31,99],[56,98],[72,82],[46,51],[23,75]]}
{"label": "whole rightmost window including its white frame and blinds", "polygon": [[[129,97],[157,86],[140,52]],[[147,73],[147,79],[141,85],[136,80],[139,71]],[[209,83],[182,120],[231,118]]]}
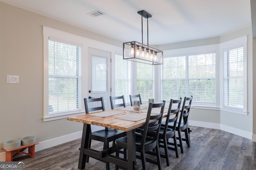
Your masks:
{"label": "whole rightmost window including its white frame and blinds", "polygon": [[220,44],[223,62],[222,109],[247,114],[247,37]]}

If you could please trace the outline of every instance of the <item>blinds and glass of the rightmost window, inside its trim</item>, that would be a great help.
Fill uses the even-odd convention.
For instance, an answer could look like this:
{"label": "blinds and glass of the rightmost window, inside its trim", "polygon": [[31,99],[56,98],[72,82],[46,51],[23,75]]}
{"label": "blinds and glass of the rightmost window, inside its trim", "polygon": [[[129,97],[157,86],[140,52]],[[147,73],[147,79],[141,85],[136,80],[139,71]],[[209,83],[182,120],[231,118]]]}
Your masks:
{"label": "blinds and glass of the rightmost window, inside its trim", "polygon": [[224,107],[244,107],[244,49],[224,51]]}

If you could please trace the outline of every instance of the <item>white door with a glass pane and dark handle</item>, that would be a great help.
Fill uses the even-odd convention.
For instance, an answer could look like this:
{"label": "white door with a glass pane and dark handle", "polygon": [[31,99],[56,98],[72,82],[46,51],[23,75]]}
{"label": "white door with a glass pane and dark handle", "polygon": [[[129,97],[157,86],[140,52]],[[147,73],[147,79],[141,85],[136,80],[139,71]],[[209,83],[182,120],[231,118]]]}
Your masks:
{"label": "white door with a glass pane and dark handle", "polygon": [[[87,98],[104,98],[105,109],[110,106],[110,57],[111,53],[98,49],[88,49],[88,96]],[[93,107],[97,107],[94,104]]]}

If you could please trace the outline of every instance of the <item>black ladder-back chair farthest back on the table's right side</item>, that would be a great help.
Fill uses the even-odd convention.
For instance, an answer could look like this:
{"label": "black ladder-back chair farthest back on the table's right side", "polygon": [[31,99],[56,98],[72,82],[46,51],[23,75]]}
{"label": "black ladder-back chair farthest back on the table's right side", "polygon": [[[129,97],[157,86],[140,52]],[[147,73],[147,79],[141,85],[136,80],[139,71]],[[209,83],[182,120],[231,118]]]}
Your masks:
{"label": "black ladder-back chair farthest back on the table's right side", "polygon": [[[186,141],[188,147],[190,147],[190,130],[188,128],[188,115],[190,112],[192,98],[193,96],[184,97],[182,109],[180,111],[180,118],[178,122],[176,124],[174,124],[174,122],[168,123],[169,128],[174,128],[173,126],[176,125],[176,131],[178,131],[177,139],[179,140],[178,147],[180,147],[181,153],[183,153],[182,141]],[[185,133],[185,138],[182,138],[181,132]]]}

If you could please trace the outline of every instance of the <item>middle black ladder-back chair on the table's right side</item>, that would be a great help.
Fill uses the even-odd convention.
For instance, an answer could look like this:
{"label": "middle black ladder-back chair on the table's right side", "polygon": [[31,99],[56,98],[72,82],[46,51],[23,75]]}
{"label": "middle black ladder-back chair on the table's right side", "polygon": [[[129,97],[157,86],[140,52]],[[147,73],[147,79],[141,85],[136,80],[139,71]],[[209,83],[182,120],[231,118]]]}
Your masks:
{"label": "middle black ladder-back chair on the table's right side", "polygon": [[[178,153],[178,146],[177,146],[177,139],[176,139],[176,126],[173,126],[172,128],[168,127],[168,124],[173,122],[174,124],[178,121],[178,115],[180,111],[180,105],[181,105],[182,98],[178,100],[170,100],[170,105],[168,109],[168,113],[166,116],[166,120],[162,121],[162,125],[159,131],[159,147],[164,148],[165,154],[160,154],[162,158],[166,159],[167,166],[170,166],[169,161],[169,150],[174,150],[176,153],[176,157],[179,157]],[[169,141],[169,139],[173,139],[173,143]]]}

